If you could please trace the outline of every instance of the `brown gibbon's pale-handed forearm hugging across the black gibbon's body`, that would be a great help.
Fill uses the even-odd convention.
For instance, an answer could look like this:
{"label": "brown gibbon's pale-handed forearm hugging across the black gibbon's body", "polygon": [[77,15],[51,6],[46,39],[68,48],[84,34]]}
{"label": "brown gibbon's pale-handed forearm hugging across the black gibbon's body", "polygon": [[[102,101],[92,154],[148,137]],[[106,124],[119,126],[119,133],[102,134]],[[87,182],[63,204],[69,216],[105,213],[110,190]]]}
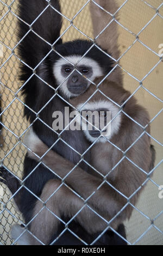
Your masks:
{"label": "brown gibbon's pale-handed forearm hugging across the black gibbon's body", "polygon": [[[45,145],[36,135],[27,136],[26,142],[24,143],[39,157],[48,151],[47,145]],[[32,151],[28,151],[28,156],[39,161],[39,158],[33,154]],[[73,163],[64,159],[53,150],[48,151],[48,153],[41,159],[41,162],[51,168],[61,179],[65,179],[66,184],[70,185],[73,190],[84,199],[87,199],[93,194],[87,203],[92,207],[95,207],[102,216],[113,217],[116,212],[122,208],[124,202],[126,202],[126,199],[121,195],[120,200],[119,198],[117,200],[117,192],[108,184],[103,184],[101,186],[103,182],[102,179],[85,172],[78,166],[74,168]],[[69,172],[71,173],[68,174]],[[101,187],[97,190],[99,186]]]}

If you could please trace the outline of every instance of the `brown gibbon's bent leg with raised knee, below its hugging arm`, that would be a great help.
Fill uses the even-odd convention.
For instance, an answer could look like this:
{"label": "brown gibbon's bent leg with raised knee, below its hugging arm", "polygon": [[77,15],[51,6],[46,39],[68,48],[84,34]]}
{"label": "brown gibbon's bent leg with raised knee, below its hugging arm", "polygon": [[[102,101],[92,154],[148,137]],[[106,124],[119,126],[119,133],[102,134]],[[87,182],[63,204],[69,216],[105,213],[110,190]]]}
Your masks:
{"label": "brown gibbon's bent leg with raised knee, below its hugging arm", "polygon": [[[37,200],[30,232],[45,245],[49,244],[53,233],[57,233],[63,214],[68,218],[77,214],[75,220],[89,234],[102,232],[107,227],[107,222],[85,205],[84,200],[60,180],[49,180],[43,187],[40,199],[46,203],[46,208],[43,208],[41,200]],[[33,237],[30,239],[30,244],[40,245],[40,242]]]}

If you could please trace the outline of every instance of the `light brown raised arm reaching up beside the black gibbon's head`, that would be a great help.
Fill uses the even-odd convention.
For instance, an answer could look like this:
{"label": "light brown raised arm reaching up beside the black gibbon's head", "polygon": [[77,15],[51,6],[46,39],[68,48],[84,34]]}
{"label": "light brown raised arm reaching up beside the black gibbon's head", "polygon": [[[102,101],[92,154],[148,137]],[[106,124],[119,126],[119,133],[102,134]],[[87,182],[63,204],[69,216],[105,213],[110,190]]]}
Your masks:
{"label": "light brown raised arm reaching up beside the black gibbon's head", "polygon": [[[95,0],[94,2],[106,11],[109,11],[112,15],[115,14],[118,9],[118,5],[115,0]],[[109,24],[109,22],[114,19],[110,14],[99,8],[98,5],[93,2],[90,4],[93,34],[95,39]],[[117,15],[115,15],[115,19],[118,20]],[[118,25],[115,21],[112,21],[103,33],[97,37],[96,42],[103,49],[107,50],[114,59],[118,60],[118,58],[120,58],[121,55],[118,48]],[[123,86],[122,70],[117,67],[116,70],[108,76],[108,80]]]}

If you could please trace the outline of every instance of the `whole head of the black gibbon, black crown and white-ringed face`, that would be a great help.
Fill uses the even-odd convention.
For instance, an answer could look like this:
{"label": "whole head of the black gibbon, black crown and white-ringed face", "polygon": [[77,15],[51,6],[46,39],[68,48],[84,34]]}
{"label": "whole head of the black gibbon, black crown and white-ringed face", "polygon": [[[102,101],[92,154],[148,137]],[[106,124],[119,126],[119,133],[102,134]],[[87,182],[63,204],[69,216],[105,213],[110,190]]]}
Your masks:
{"label": "whole head of the black gibbon, black crown and white-ringed face", "polygon": [[[68,99],[83,94],[97,77],[107,75],[112,60],[87,40],[74,40],[55,47],[53,75]],[[58,53],[58,54],[57,54]]]}

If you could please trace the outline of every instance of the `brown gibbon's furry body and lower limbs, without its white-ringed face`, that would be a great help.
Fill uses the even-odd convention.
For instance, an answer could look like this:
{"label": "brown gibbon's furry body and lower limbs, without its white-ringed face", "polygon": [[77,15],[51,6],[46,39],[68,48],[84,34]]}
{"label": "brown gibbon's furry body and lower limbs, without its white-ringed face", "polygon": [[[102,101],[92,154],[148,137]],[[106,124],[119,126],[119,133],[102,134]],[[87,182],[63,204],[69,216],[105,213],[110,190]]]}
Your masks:
{"label": "brown gibbon's furry body and lower limbs, without its white-ringed face", "polygon": [[[109,83],[105,81],[99,89],[101,89],[105,95],[109,96],[111,100],[118,103],[118,105],[122,105],[122,101],[127,100],[130,96],[129,92],[111,82]],[[84,95],[79,96],[78,100],[73,99],[71,103],[74,106],[77,106],[79,103],[85,102],[95,90],[95,86],[91,86]],[[107,101],[107,99],[98,92],[92,97],[90,102],[104,99]],[[149,123],[147,111],[137,105],[134,97],[131,97],[126,103],[124,112],[142,126],[146,126]],[[149,126],[147,126],[146,131],[149,132],[149,130]],[[133,120],[122,114],[120,130],[111,138],[111,143],[121,150],[126,151],[142,133],[143,129],[139,125],[135,124]],[[30,147],[32,144],[30,136],[27,138],[27,141],[28,147]],[[108,174],[123,157],[122,152],[114,147],[114,145],[111,145],[109,142],[96,143],[91,149],[91,164],[103,175]],[[45,154],[48,150],[47,146],[43,144],[39,138],[34,141],[31,149],[39,157]],[[30,151],[28,154],[33,159],[38,160],[38,158]],[[148,173],[152,159],[150,138],[144,134],[126,153],[126,157],[128,157],[130,161],[133,161],[136,166],[139,166]],[[104,217],[106,221],[109,221],[123,208],[124,205],[127,204],[127,198],[141,187],[147,178],[147,175],[134,166],[128,159],[123,159],[106,178],[111,186],[114,186],[120,193],[106,182],[97,190],[102,184],[103,178],[100,175],[97,176],[95,171],[86,173],[81,168],[76,167],[70,174],[68,174],[73,169],[74,164],[63,159],[52,150],[49,151],[41,161],[57,173],[61,179],[65,178],[68,174],[65,179],[66,184],[71,186],[73,190],[84,199],[87,199],[93,192],[95,192],[93,193],[93,196],[87,200],[87,205],[91,206],[91,208]],[[49,181],[42,191],[41,199],[45,201],[56,190],[56,186],[60,185],[60,181]],[[135,205],[139,195],[140,191],[136,192],[135,196],[131,197],[129,202]],[[62,185],[47,202],[47,207],[55,212],[58,217],[61,216],[62,212],[68,217],[72,217],[83,207],[83,205],[83,200],[76,196],[65,185]],[[40,211],[42,206],[42,203],[37,202],[34,216]],[[118,224],[131,216],[132,211],[133,208],[130,205],[127,205],[110,225],[116,229]],[[42,222],[42,220],[45,221],[45,227],[40,228],[40,222]],[[107,227],[107,223],[91,211],[88,206],[85,206],[82,212],[77,215],[76,220],[91,234],[96,233],[97,231],[102,231]],[[48,243],[52,231],[54,230],[54,226],[55,229],[57,229],[57,225],[57,218],[53,217],[51,213],[45,210],[32,222],[30,231],[39,237],[41,241]]]}

